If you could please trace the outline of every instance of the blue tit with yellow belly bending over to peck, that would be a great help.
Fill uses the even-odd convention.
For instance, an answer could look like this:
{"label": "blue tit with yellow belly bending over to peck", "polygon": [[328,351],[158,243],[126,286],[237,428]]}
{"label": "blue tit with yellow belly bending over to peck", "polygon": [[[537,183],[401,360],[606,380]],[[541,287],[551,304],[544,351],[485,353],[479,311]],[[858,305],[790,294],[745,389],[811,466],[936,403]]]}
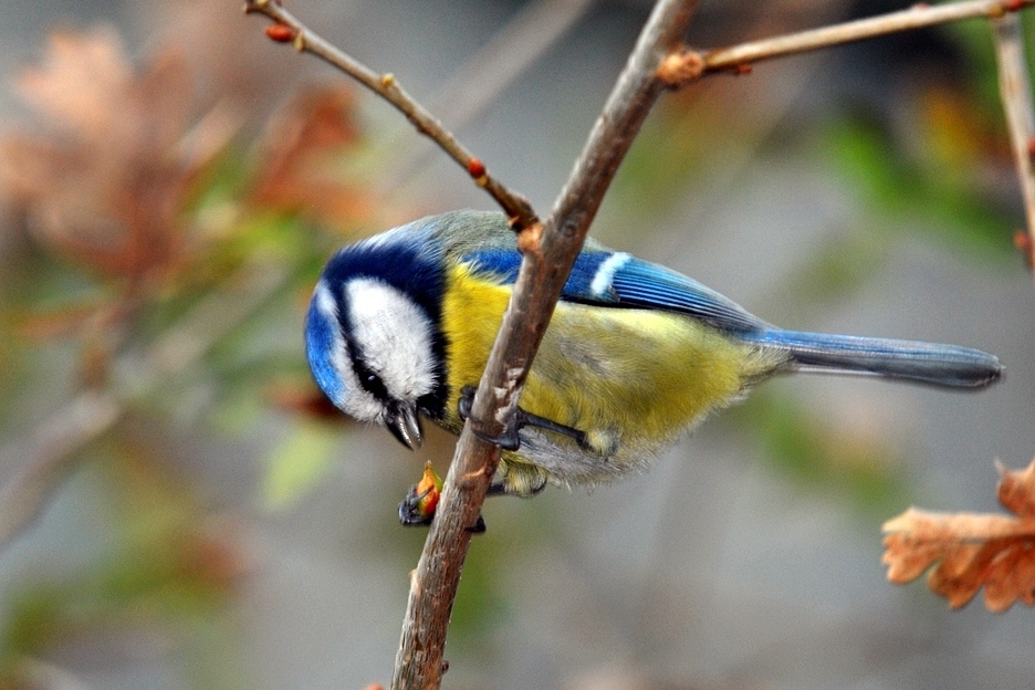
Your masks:
{"label": "blue tit with yellow belly bending over to peck", "polygon": [[[421,442],[419,416],[459,433],[521,255],[501,213],[454,211],[341,249],[305,324],[313,376],[347,415]],[[775,328],[675,271],[587,240],[521,394],[518,442],[493,491],[594,484],[770,376],[815,370],[980,388],[996,357],[954,345]],[[506,448],[506,446],[504,446]]]}

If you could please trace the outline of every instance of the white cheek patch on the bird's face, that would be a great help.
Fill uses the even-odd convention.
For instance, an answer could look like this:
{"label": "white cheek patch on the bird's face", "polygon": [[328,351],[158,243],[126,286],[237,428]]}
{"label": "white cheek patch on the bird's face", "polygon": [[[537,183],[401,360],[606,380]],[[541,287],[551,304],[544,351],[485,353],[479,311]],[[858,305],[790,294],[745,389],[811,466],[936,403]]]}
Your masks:
{"label": "white cheek patch on the bird's face", "polygon": [[381,379],[388,395],[412,402],[431,393],[436,362],[427,313],[400,290],[369,278],[345,283],[343,296],[356,354]]}

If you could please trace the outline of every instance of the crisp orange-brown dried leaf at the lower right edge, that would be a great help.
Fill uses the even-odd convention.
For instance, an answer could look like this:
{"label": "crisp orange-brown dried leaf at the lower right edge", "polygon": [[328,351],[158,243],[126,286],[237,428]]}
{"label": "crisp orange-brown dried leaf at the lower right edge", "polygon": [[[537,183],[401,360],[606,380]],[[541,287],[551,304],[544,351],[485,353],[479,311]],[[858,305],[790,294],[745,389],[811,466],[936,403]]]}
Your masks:
{"label": "crisp orange-brown dried leaf at the lower right edge", "polygon": [[985,606],[1035,605],[1035,460],[1000,467],[1000,501],[1017,516],[909,509],[884,524],[888,579],[907,583],[931,568],[928,586],[958,608],[985,588]]}

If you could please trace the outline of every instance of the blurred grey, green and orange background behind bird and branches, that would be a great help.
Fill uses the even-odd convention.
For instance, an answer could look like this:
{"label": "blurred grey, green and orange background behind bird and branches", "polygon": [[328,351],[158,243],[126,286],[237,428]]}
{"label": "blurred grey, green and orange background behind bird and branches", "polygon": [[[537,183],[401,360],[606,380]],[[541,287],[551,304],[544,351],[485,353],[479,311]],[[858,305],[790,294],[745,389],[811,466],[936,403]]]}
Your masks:
{"label": "blurred grey, green and orange background behind bird and branches", "polygon": [[[905,4],[705,1],[691,42]],[[649,7],[290,9],[545,215]],[[493,206],[240,10],[4,6],[0,688],[390,678],[425,536],[396,506],[452,439],[414,454],[328,410],[302,317],[337,245]],[[885,520],[997,511],[993,460],[1035,454],[1022,226],[982,21],[665,96],[598,239],[785,327],[970,345],[1008,375],[975,395],[774,380],[642,477],[490,501],[445,687],[1029,688],[1032,610],[951,611],[880,562]]]}

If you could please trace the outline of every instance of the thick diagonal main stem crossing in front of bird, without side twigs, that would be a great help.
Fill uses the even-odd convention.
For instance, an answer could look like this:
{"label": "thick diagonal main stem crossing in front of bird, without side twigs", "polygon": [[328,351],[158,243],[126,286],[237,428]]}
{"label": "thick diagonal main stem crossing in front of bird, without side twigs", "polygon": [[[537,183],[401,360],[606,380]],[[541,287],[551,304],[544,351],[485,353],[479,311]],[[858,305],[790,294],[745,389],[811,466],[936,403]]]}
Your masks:
{"label": "thick diagonal main stem crossing in front of bird, without side twigs", "polygon": [[532,358],[589,223],[651,105],[666,88],[658,67],[683,40],[696,8],[694,0],[658,2],[546,227],[533,226],[519,237],[524,259],[518,282],[412,577],[391,683],[396,690],[438,688],[441,682],[446,631],[470,527],[500,459],[499,447],[481,440],[472,427],[498,437],[516,411]]}

